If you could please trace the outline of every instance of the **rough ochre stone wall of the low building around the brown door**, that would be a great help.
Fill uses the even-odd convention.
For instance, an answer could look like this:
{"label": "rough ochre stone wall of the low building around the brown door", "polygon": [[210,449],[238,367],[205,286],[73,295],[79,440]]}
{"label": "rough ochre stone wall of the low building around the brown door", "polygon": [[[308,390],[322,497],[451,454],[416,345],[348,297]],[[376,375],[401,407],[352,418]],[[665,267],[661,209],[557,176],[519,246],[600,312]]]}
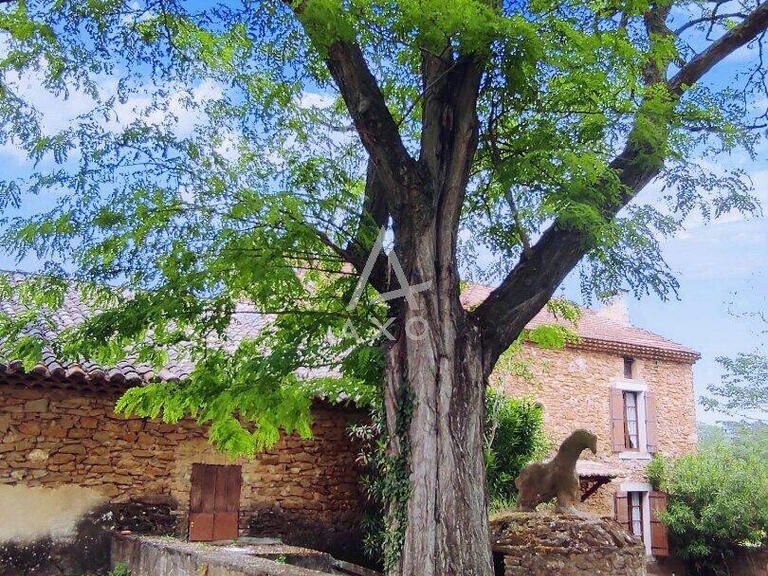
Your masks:
{"label": "rough ochre stone wall of the low building around the brown door", "polygon": [[[126,419],[112,411],[116,398],[28,388],[20,379],[0,382],[0,484],[77,485],[112,502],[167,501],[183,532],[192,464],[240,464],[241,529],[267,535],[274,519],[283,518],[302,528],[305,545],[350,555],[338,547],[356,540],[350,534],[360,515],[359,467],[346,434],[358,413],[317,406],[313,439],[286,436],[253,460],[233,461],[208,444],[206,431],[194,422]],[[266,517],[271,523],[262,525],[259,519]],[[291,524],[283,526],[282,535],[290,539]]]}

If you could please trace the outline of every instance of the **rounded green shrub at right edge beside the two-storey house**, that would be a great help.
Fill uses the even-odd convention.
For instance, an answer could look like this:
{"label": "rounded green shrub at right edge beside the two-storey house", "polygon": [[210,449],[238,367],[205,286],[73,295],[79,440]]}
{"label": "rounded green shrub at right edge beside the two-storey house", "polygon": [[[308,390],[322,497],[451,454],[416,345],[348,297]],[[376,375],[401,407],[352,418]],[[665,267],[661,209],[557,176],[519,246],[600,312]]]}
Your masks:
{"label": "rounded green shrub at right edge beside the two-storey house", "polygon": [[693,573],[726,573],[735,552],[768,545],[768,461],[747,445],[714,437],[696,454],[649,466],[651,482],[669,493],[660,518],[673,552]]}

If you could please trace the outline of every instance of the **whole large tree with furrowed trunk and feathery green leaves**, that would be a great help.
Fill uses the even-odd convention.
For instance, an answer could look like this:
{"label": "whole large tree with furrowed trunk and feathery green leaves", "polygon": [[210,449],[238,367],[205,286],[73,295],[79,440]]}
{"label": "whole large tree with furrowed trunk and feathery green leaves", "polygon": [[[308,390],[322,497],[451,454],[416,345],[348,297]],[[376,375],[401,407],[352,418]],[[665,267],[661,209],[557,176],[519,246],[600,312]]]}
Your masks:
{"label": "whole large tree with furrowed trunk and feathery green leaves", "polygon": [[[318,388],[378,383],[389,572],[490,575],[497,359],[580,262],[586,293],[664,296],[660,236],[755,208],[698,160],[764,130],[766,28],[751,0],[6,2],[0,135],[36,164],[0,186],[2,246],[45,274],[5,287],[29,312],[3,356],[39,358],[24,328],[78,280],[96,313],[55,352],[161,366],[172,345],[190,378],[120,407],[192,415],[224,449],[306,435]],[[51,122],[41,88],[77,114]],[[350,307],[381,228],[402,274],[378,253]],[[428,289],[376,301],[399,277]],[[498,284],[465,310],[470,278]],[[238,307],[269,328],[215,344]]]}

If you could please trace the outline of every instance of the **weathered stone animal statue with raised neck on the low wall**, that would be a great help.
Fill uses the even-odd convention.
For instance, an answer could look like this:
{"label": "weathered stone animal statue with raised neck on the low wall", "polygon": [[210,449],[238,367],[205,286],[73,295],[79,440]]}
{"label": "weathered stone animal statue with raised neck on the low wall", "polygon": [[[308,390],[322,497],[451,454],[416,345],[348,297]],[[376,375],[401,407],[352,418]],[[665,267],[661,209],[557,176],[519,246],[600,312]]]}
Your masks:
{"label": "weathered stone animal statue with raised neck on the low wall", "polygon": [[576,430],[563,441],[551,461],[526,466],[515,480],[518,510],[532,512],[542,502],[557,498],[559,512],[579,513],[581,493],[576,461],[587,448],[597,454],[597,436],[589,430]]}

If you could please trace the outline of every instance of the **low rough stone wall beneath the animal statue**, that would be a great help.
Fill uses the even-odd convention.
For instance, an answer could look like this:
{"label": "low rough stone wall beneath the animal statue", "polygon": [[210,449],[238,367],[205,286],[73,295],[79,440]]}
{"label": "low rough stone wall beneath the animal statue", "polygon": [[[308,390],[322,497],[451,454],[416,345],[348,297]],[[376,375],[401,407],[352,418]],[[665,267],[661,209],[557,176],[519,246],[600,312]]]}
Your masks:
{"label": "low rough stone wall beneath the animal statue", "polygon": [[510,512],[491,520],[497,576],[645,576],[645,547],[605,518]]}

